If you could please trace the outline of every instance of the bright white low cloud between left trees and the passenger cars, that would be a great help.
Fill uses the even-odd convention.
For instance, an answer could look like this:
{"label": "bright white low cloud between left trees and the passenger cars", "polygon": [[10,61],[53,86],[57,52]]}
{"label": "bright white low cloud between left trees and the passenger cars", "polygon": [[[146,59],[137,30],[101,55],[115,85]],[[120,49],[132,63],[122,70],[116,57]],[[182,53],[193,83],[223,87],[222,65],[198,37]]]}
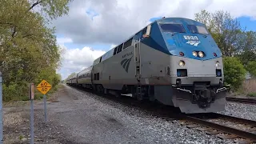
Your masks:
{"label": "bright white low cloud between left trees and the passenger cars", "polygon": [[62,74],[62,78],[66,78],[69,74],[78,73],[81,70],[93,64],[94,60],[106,51],[93,50],[91,47],[83,47],[82,49],[67,49],[66,46],[61,46],[65,49],[63,55],[62,69],[58,72]]}

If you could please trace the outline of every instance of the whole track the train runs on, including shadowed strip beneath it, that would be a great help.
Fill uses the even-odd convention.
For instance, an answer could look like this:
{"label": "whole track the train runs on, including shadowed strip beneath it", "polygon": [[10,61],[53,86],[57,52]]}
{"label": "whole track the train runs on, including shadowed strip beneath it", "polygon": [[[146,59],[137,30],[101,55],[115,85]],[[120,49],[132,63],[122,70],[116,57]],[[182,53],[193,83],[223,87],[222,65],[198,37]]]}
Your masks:
{"label": "whole track the train runs on, including shadowed strip beneath it", "polygon": [[[83,89],[78,89],[84,91]],[[97,98],[97,97],[96,97]],[[99,100],[101,99],[98,97]],[[124,106],[137,107],[147,114],[173,122],[178,120],[182,126],[200,130],[206,134],[216,135],[222,139],[234,139],[237,143],[256,143],[256,122],[243,118],[236,118],[228,115],[211,114],[182,114],[178,108],[170,109],[170,106],[158,104],[136,102],[131,98],[115,98],[113,96],[104,96],[114,102]]]}

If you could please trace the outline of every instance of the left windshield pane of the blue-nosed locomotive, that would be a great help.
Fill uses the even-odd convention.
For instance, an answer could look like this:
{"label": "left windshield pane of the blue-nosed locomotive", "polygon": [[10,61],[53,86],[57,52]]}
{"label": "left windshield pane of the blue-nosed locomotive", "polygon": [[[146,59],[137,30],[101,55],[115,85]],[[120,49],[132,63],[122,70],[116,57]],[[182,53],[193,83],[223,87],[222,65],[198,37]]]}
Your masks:
{"label": "left windshield pane of the blue-nosed locomotive", "polygon": [[161,26],[161,29],[163,31],[167,31],[167,32],[177,32],[177,33],[185,33],[185,29],[184,27],[182,26],[182,24],[170,24],[170,23],[166,23],[166,24],[160,24]]}

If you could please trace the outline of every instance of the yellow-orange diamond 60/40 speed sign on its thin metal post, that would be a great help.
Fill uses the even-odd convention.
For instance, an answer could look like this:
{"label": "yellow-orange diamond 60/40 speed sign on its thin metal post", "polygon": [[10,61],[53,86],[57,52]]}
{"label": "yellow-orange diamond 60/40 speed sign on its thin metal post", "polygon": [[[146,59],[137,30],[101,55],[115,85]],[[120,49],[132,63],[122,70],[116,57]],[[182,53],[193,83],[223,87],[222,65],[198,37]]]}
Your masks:
{"label": "yellow-orange diamond 60/40 speed sign on its thin metal post", "polygon": [[50,90],[50,83],[46,82],[46,80],[42,80],[37,86],[37,89],[43,94],[43,102],[44,102],[44,112],[45,112],[45,122],[47,122],[47,111],[46,111],[46,93]]}

